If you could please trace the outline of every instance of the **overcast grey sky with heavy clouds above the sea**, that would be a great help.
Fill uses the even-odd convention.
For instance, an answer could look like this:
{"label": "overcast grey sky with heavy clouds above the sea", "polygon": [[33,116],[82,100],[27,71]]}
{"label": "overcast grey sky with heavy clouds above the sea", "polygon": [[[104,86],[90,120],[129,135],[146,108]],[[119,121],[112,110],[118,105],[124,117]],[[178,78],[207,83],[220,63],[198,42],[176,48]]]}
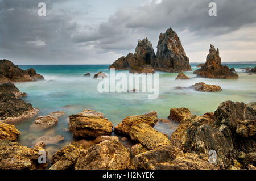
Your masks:
{"label": "overcast grey sky with heavy clouds above the sea", "polygon": [[[38,3],[46,3],[46,16]],[[217,16],[209,16],[216,2]],[[112,64],[172,28],[190,62],[209,45],[222,61],[256,61],[255,0],[0,0],[0,59],[15,64]]]}

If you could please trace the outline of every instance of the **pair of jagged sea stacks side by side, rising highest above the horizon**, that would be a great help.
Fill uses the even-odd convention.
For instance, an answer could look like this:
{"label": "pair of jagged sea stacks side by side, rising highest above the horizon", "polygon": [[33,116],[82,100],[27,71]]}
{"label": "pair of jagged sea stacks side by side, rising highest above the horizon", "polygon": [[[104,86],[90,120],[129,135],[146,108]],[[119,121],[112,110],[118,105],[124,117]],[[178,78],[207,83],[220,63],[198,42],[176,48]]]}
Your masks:
{"label": "pair of jagged sea stacks side by side, rising highest above the horizon", "polygon": [[133,73],[154,73],[155,70],[167,72],[192,70],[179,37],[171,28],[164,34],[160,33],[157,48],[158,52],[155,56],[150,41],[147,38],[139,40],[134,54],[129,53],[126,57],[119,58],[110,65],[109,69],[130,70]]}

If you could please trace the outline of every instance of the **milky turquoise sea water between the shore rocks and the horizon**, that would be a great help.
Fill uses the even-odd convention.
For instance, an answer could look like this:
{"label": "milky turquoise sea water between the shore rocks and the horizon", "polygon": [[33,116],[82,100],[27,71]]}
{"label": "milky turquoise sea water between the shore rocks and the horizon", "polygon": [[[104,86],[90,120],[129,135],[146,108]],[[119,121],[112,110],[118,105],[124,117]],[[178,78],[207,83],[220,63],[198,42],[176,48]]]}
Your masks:
{"label": "milky turquoise sea water between the shore rocks and the horizon", "polygon": [[[195,70],[197,64],[191,64]],[[148,99],[145,93],[104,93],[97,91],[98,80],[93,75],[99,71],[109,73],[109,65],[19,65],[22,69],[34,68],[42,74],[46,81],[15,83],[22,92],[27,92],[27,102],[40,108],[40,115],[47,115],[52,111],[64,111],[67,116],[59,119],[59,124],[49,131],[32,133],[28,127],[34,119],[23,121],[16,125],[21,131],[19,142],[31,146],[31,142],[43,135],[63,135],[65,141],[57,146],[48,146],[50,154],[61,146],[73,141],[72,133],[64,131],[68,128],[68,115],[79,113],[84,109],[100,111],[112,121],[113,125],[120,123],[125,117],[141,115],[150,111],[157,111],[159,118],[166,119],[170,108],[187,107],[193,114],[203,115],[213,112],[225,100],[239,102],[256,101],[256,74],[248,75],[240,68],[254,67],[255,64],[229,64],[235,68],[239,79],[205,79],[196,78],[193,71],[185,73],[189,80],[176,81],[177,73],[159,72],[159,98]],[[120,71],[116,71],[120,72]],[[128,74],[128,71],[123,71]],[[91,77],[83,77],[90,73]],[[176,90],[176,86],[189,87],[197,82],[219,85],[220,92],[196,92],[193,90]],[[177,124],[156,125],[156,129],[168,135],[177,128]]]}

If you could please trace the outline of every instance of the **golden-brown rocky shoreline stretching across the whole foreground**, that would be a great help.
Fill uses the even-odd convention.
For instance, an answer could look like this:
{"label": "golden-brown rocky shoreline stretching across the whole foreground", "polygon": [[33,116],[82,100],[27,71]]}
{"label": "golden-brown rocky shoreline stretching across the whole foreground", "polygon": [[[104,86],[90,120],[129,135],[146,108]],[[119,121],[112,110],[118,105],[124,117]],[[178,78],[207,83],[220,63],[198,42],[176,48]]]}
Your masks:
{"label": "golden-brown rocky shoreline stretching across the whole foreground", "polygon": [[[0,169],[256,169],[255,104],[226,101],[203,116],[192,115],[187,108],[171,108],[169,120],[152,111],[128,116],[114,128],[101,112],[84,110],[69,116],[69,131],[77,141],[53,155],[44,147],[58,144],[63,136],[40,137],[34,148],[28,148],[15,142],[20,132],[14,125],[0,122]],[[64,114],[39,116],[31,126],[57,127],[57,117]],[[180,125],[169,138],[154,128],[160,120]],[[84,144],[86,139],[92,143]],[[125,141],[132,142],[131,147]],[[38,164],[42,150],[51,165]],[[210,151],[215,151],[216,163],[209,162]]]}

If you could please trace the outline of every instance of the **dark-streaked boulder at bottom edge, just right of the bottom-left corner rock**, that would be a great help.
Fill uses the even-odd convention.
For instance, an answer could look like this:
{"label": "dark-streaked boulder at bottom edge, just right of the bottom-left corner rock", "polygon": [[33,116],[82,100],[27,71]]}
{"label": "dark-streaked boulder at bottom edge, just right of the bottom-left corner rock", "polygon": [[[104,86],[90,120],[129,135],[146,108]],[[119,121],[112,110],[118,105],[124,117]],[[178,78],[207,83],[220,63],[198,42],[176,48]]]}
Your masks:
{"label": "dark-streaked boulder at bottom edge, just right of the bottom-left corner rock", "polygon": [[82,150],[84,150],[83,146],[77,142],[71,142],[71,144],[64,146],[52,156],[52,166],[49,170],[74,169]]}

